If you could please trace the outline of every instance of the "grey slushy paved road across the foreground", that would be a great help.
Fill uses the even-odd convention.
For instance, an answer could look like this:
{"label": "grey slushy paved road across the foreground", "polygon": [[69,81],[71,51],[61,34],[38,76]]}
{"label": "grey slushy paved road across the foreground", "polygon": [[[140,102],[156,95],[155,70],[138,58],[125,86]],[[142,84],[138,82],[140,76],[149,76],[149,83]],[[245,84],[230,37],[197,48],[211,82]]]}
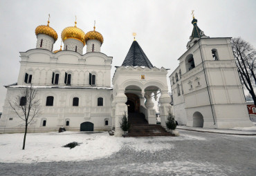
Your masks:
{"label": "grey slushy paved road across the foreground", "polygon": [[179,131],[203,140],[166,141],[173,147],[158,152],[124,144],[110,157],[86,162],[2,163],[0,175],[256,175],[256,137]]}

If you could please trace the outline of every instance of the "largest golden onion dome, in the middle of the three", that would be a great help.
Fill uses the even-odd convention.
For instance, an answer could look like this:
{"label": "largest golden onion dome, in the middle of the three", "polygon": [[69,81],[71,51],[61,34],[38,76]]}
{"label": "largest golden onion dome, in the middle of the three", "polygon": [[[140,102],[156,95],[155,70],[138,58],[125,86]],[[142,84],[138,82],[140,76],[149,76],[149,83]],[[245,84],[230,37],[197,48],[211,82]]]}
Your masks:
{"label": "largest golden onion dome, in the middle of the three", "polygon": [[66,39],[77,39],[84,43],[85,46],[84,31],[82,31],[80,28],[77,28],[76,23],[77,22],[75,21],[75,26],[70,26],[62,30],[62,41],[65,41]]}

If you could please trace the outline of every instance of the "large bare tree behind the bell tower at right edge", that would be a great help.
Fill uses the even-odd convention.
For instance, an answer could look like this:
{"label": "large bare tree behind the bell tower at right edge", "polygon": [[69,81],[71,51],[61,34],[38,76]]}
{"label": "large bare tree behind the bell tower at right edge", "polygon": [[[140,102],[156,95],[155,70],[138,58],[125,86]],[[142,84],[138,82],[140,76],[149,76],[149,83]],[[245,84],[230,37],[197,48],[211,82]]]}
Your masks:
{"label": "large bare tree behind the bell tower at right edge", "polygon": [[240,37],[231,39],[232,50],[236,59],[238,73],[241,83],[249,91],[256,106],[256,95],[253,87],[256,85],[255,69],[256,69],[256,51],[253,46]]}

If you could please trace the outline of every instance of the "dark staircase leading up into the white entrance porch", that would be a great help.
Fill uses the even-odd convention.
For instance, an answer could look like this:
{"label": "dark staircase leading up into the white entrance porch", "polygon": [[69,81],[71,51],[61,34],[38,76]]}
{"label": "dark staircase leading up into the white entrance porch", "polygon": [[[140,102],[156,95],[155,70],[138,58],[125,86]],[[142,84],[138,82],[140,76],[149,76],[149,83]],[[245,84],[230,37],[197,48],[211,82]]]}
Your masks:
{"label": "dark staircase leading up into the white entrance porch", "polygon": [[149,125],[143,113],[129,113],[128,121],[131,127],[127,137],[174,136],[161,125]]}

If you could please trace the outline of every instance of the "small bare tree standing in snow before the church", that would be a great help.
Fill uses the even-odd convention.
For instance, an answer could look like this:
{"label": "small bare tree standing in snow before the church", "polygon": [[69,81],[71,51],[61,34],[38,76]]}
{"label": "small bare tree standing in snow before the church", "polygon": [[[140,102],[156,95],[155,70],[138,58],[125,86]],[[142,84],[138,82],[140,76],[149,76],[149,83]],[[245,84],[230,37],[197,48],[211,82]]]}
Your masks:
{"label": "small bare tree standing in snow before the church", "polygon": [[24,121],[25,133],[22,150],[25,149],[28,124],[35,122],[38,117],[41,105],[37,99],[37,90],[32,85],[20,88],[20,94],[13,101],[9,100],[10,107],[15,111],[20,119]]}

